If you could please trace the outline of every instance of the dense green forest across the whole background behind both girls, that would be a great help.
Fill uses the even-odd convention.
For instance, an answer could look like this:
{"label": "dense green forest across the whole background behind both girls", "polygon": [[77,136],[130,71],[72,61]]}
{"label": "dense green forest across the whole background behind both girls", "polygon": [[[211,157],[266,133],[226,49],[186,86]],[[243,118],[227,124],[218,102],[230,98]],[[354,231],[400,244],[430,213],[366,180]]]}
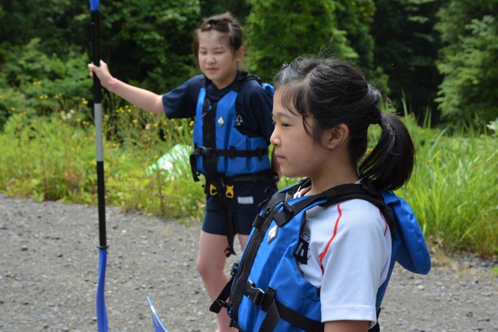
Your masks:
{"label": "dense green forest across the whole background behind both girls", "polygon": [[[427,110],[440,123],[498,117],[498,0],[106,0],[101,1],[101,57],[120,79],[167,91],[198,72],[191,38],[201,17],[225,10],[245,24],[247,69],[267,81],[298,55],[334,55],[352,60],[394,108],[400,111],[404,100],[420,121]],[[39,65],[45,69],[32,82],[52,80],[58,70],[47,67],[67,64],[72,69],[57,78],[83,84],[71,71],[85,71],[89,21],[87,2],[2,1],[4,101],[25,95],[21,81],[28,82],[29,75],[20,59],[27,49],[50,63]],[[78,66],[76,60],[83,61]],[[23,71],[21,77],[16,71]],[[67,95],[85,95],[66,88]],[[49,98],[55,96],[51,90]],[[0,125],[8,116],[5,109],[16,105],[18,98],[0,106]]]}

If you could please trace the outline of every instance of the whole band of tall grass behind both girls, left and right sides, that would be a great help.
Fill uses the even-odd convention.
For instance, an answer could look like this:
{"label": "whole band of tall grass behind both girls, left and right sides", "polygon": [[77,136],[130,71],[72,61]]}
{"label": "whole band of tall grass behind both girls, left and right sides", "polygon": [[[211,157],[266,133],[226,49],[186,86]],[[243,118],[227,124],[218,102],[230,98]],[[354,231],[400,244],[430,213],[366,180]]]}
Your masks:
{"label": "whole band of tall grass behind both girls, left and right sides", "polygon": [[[106,100],[106,203],[125,211],[199,221],[204,194],[188,167],[149,167],[177,143],[191,145],[192,122],[167,120],[117,98]],[[112,107],[110,107],[112,106]],[[0,191],[36,200],[96,204],[95,129],[87,103],[50,116],[15,111],[0,134]],[[427,239],[446,250],[498,254],[498,139],[470,127],[458,135],[423,127],[405,116],[416,147],[416,169],[398,191]],[[379,128],[371,130],[373,144]],[[183,163],[184,164],[184,163]],[[295,183],[283,178],[279,187]]]}

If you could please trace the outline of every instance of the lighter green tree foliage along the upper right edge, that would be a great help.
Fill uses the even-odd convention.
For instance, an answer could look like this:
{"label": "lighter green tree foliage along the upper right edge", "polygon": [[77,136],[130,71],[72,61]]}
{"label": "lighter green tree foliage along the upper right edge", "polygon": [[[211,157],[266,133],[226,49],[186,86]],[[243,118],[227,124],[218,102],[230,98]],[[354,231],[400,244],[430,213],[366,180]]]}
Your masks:
{"label": "lighter green tree foliage along the upper right edge", "polygon": [[498,117],[497,12],[497,0],[453,0],[438,12],[444,79],[436,101],[447,120]]}

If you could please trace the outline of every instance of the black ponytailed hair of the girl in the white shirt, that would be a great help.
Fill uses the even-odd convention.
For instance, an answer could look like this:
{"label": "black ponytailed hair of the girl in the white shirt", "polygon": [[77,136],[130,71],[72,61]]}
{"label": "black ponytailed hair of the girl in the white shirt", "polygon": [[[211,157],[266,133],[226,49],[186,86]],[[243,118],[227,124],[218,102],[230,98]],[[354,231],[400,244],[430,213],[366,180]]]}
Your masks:
{"label": "black ponytailed hair of the girl in the white shirt", "polygon": [[[282,66],[274,81],[282,106],[303,116],[316,144],[323,146],[324,130],[341,123],[348,126],[348,152],[355,165],[367,151],[369,125],[380,125],[379,141],[358,173],[379,190],[395,190],[408,181],[415,162],[410,134],[396,115],[380,110],[379,91],[353,65],[300,57]],[[311,132],[307,123],[313,124]]]}

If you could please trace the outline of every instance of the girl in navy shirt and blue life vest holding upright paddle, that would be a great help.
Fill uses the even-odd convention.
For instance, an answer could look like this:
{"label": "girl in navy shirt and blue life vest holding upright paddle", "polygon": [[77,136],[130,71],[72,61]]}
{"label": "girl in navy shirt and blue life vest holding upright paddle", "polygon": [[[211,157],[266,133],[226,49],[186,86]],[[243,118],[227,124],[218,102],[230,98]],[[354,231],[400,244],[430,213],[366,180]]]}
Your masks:
{"label": "girl in navy shirt and blue life vest holding upright paddle", "polygon": [[[272,94],[238,70],[245,52],[239,21],[228,12],[204,19],[192,49],[203,75],[164,95],[117,80],[103,61],[88,67],[102,86],[141,109],[168,118],[195,116],[191,165],[195,180],[205,175],[207,196],[197,269],[213,300],[228,281],[224,265],[234,253],[234,235],[244,247],[265,189],[276,191],[280,169],[268,158]],[[233,330],[226,311],[218,321],[217,331]]]}

